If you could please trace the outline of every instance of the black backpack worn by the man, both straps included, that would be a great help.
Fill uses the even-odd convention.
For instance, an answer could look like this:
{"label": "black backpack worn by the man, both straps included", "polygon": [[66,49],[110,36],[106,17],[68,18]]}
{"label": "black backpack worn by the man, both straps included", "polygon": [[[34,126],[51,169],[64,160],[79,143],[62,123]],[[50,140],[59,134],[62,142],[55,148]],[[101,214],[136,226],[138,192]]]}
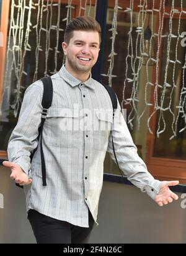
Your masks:
{"label": "black backpack worn by the man, both straps included", "polygon": [[[51,81],[51,77],[50,76],[44,77],[41,80],[42,80],[42,83],[43,83],[43,99],[42,99],[43,112],[42,112],[42,117],[41,117],[42,118],[41,125],[38,128],[37,140],[40,139],[40,153],[41,153],[41,160],[42,160],[42,181],[43,181],[43,186],[47,186],[45,157],[44,157],[44,154],[43,154],[43,145],[42,145],[42,135],[43,135],[43,125],[44,125],[45,119],[47,117],[47,111],[48,111],[48,108],[51,106],[51,101],[52,101],[52,98],[53,98],[53,85],[52,85],[52,81]],[[115,91],[113,91],[113,89],[110,86],[104,85],[104,84],[102,84],[102,85],[105,87],[105,89],[107,89],[108,94],[110,95],[110,99],[112,101],[112,107],[113,107],[113,117],[114,117],[114,111],[115,111],[115,109],[117,109],[117,96],[115,94]],[[113,148],[113,153],[114,153],[114,156],[115,156],[115,160],[116,160],[117,165],[118,165],[117,157],[115,155],[114,144],[113,144],[113,136],[112,136],[112,148]],[[33,155],[35,154],[36,150],[37,150],[37,148],[34,149],[33,152],[30,155],[30,162],[31,163],[32,163]],[[119,165],[118,165],[118,168],[120,170]],[[120,173],[122,175],[122,171],[121,170],[120,170]],[[19,188],[24,188],[24,186],[19,185],[19,183],[15,183],[15,185],[19,186]]]}

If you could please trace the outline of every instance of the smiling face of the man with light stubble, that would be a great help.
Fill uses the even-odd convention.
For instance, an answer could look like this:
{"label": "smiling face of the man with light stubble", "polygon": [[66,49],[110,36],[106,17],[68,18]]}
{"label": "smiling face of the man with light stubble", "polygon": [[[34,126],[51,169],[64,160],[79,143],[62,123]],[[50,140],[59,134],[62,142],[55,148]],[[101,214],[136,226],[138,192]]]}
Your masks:
{"label": "smiling face of the man with light stubble", "polygon": [[62,43],[66,65],[74,72],[87,73],[97,62],[99,55],[99,33],[75,30],[69,44]]}

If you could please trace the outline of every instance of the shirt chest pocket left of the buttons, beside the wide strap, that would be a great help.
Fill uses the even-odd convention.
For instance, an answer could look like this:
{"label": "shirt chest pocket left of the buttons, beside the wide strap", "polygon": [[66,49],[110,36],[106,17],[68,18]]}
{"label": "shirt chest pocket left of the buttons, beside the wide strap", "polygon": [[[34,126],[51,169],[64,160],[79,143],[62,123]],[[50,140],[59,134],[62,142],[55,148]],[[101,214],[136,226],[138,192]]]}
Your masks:
{"label": "shirt chest pocket left of the buttons, beside the wide strap", "polygon": [[77,147],[79,143],[79,112],[65,106],[50,107],[43,134],[46,144],[55,147]]}

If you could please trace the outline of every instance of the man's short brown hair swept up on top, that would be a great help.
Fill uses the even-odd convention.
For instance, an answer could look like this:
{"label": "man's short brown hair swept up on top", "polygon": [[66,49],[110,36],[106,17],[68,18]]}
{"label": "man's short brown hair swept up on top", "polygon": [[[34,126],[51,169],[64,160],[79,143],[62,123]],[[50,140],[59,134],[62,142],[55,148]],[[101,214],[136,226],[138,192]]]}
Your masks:
{"label": "man's short brown hair swept up on top", "polygon": [[74,30],[82,31],[97,31],[99,33],[99,39],[101,42],[101,27],[100,24],[89,16],[80,16],[72,19],[66,26],[64,32],[64,42],[69,43],[73,37]]}

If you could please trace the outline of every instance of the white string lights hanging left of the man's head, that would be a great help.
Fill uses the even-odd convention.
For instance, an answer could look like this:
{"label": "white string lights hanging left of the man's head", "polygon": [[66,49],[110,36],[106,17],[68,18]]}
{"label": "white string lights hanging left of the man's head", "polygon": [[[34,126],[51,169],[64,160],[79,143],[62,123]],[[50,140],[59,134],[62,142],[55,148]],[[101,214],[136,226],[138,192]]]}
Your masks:
{"label": "white string lights hanging left of the man's head", "polygon": [[[6,55],[6,72],[4,78],[4,91],[2,99],[6,99],[7,104],[10,104],[11,95],[11,81],[12,73],[16,78],[16,85],[14,89],[14,103],[11,104],[14,109],[14,116],[16,117],[19,112],[20,104],[22,103],[22,89],[25,85],[22,85],[22,80],[28,75],[25,70],[25,59],[27,53],[31,52],[35,55],[35,66],[33,81],[38,80],[38,70],[40,68],[40,55],[45,53],[45,71],[44,75],[53,75],[58,71],[58,57],[62,54],[59,50],[59,39],[63,29],[60,27],[61,18],[61,4],[63,0],[12,0],[10,11],[10,24],[9,24],[9,36],[7,39],[7,55]],[[68,4],[62,7],[62,13],[66,12],[66,17],[62,19],[64,27],[71,20],[72,10],[75,8],[73,0],[68,0]],[[76,1],[77,4],[77,1]],[[79,0],[79,16],[85,11],[86,15],[90,15],[91,9],[93,9],[94,17],[97,7],[97,0]],[[37,19],[33,19],[33,12],[37,15]],[[53,17],[57,13],[56,22],[53,23]],[[26,22],[26,26],[24,25]],[[55,32],[55,37],[51,38],[51,31]],[[30,32],[35,33],[35,45],[30,42]],[[45,35],[45,45],[42,44],[42,37]],[[51,46],[51,41],[55,41],[55,47]],[[35,49],[34,49],[35,48]],[[33,50],[34,49],[34,50]],[[53,53],[53,70],[48,70],[48,56],[50,52]],[[50,60],[51,61],[51,60]],[[64,59],[63,59],[64,62]],[[51,63],[50,63],[51,64]],[[62,63],[61,63],[62,65]],[[33,68],[33,67],[32,67]]]}

